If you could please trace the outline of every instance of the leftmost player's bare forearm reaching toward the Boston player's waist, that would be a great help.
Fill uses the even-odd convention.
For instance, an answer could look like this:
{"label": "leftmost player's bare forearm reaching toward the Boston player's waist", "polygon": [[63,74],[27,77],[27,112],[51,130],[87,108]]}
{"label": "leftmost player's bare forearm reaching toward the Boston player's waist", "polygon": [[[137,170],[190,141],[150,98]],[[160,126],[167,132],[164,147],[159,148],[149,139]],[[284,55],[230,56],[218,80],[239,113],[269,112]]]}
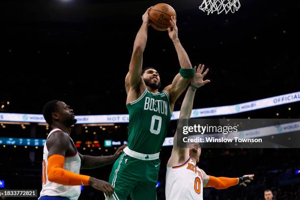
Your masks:
{"label": "leftmost player's bare forearm reaching toward the Boston player's waist", "polygon": [[115,162],[118,159],[118,157],[121,155],[125,147],[127,147],[127,145],[123,145],[122,147],[119,147],[119,149],[116,150],[115,154],[107,155],[107,156],[90,156],[90,155],[81,155],[79,153],[81,159],[80,169],[94,169]]}

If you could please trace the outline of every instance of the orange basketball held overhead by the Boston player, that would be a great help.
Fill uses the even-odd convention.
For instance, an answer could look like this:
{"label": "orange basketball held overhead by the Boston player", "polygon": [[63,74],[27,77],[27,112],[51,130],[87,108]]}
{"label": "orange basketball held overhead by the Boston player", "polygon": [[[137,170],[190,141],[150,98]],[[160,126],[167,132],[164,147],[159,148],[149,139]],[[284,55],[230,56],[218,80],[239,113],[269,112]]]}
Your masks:
{"label": "orange basketball held overhead by the Boston player", "polygon": [[150,25],[156,30],[167,30],[168,27],[172,27],[170,24],[171,16],[176,17],[174,8],[166,3],[158,3],[150,9]]}

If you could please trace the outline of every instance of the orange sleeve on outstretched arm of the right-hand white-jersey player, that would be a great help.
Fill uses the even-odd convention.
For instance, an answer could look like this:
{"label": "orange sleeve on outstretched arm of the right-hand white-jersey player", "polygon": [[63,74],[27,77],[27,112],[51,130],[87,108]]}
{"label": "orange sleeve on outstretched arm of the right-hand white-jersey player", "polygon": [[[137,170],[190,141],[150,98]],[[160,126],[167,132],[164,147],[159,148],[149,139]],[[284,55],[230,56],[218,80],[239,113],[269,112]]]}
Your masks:
{"label": "orange sleeve on outstretched arm of the right-hand white-jersey player", "polygon": [[216,189],[226,189],[230,186],[237,185],[239,182],[238,178],[227,178],[227,177],[215,177],[209,175],[208,183],[206,187],[213,187]]}

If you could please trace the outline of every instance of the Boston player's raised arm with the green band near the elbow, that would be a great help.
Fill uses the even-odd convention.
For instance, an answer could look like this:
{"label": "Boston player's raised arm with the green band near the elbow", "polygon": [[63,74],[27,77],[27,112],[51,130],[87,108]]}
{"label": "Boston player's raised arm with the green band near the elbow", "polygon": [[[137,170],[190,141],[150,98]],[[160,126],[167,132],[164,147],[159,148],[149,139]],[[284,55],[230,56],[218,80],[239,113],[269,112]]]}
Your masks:
{"label": "Boston player's raised arm with the green band near the elbow", "polygon": [[180,73],[178,73],[171,85],[167,86],[165,90],[170,94],[170,100],[172,102],[172,109],[174,102],[178,99],[181,93],[185,90],[186,86],[188,85],[190,78],[192,78],[195,74],[195,71],[192,68],[192,64],[190,62],[189,56],[187,55],[186,51],[182,47],[179,39],[178,39],[178,28],[176,25],[176,18],[171,17],[170,21],[172,25],[171,28],[168,28],[169,37],[172,39],[173,44],[175,46],[175,50],[178,55],[179,64],[180,64]]}

